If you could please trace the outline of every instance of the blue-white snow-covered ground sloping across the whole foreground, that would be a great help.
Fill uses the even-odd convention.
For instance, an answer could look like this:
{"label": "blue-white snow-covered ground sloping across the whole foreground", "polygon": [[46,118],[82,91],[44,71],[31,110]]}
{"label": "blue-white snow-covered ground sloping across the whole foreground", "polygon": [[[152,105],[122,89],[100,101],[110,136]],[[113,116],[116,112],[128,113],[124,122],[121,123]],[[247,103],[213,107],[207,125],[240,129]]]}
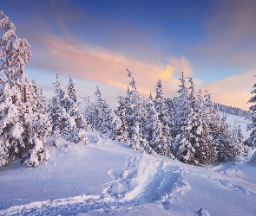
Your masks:
{"label": "blue-white snow-covered ground sloping across the whole foreground", "polygon": [[47,149],[37,168],[0,168],[0,215],[256,215],[250,156],[201,168],[110,140]]}

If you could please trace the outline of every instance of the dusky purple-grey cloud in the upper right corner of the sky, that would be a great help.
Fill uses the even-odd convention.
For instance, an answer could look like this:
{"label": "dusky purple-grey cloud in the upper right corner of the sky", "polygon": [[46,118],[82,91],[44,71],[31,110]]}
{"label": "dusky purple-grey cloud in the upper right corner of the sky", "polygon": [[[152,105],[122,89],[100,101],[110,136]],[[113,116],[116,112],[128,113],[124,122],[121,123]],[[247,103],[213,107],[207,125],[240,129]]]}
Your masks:
{"label": "dusky purple-grey cloud in the upper right corner of the sky", "polygon": [[256,58],[256,1],[215,1],[204,21],[205,35],[190,52],[200,54],[202,64],[254,67]]}

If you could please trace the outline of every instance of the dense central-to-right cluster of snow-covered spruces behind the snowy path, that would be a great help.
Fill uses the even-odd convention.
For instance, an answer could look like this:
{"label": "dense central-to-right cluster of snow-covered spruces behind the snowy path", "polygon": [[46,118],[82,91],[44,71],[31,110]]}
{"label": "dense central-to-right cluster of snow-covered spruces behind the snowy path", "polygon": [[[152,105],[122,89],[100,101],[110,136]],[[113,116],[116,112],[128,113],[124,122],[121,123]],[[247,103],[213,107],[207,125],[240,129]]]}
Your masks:
{"label": "dense central-to-right cluster of snow-covered spruces behind the snowy path", "polygon": [[[156,94],[140,98],[132,72],[126,97],[119,96],[115,112],[97,88],[95,103],[87,98],[86,117],[92,127],[111,139],[128,143],[132,149],[176,157],[194,165],[235,160],[244,151],[240,124],[232,129],[213,105],[211,94],[195,93],[181,77],[179,97],[164,98],[161,80]],[[174,137],[174,139],[173,139]]]}

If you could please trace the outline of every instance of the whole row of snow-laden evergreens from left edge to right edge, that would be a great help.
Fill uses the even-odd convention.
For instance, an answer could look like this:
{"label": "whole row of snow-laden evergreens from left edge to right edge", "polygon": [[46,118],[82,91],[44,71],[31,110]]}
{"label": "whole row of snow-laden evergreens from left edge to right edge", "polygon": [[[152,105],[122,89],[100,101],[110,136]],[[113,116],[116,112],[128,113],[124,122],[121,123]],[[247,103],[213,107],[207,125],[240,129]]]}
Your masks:
{"label": "whole row of snow-laden evergreens from left edge to right edge", "polygon": [[[240,123],[231,128],[219,111],[251,118],[251,137],[246,141],[256,146],[256,105],[250,113],[239,108],[215,104],[211,94],[195,92],[194,80],[181,76],[179,96],[164,98],[161,79],[155,86],[155,97],[141,98],[133,73],[127,69],[127,95],[119,95],[114,110],[102,98],[97,86],[96,100],[84,98],[84,117],[79,110],[75,84],[69,77],[67,91],[56,75],[55,95],[46,105],[43,91],[30,81],[23,69],[31,59],[30,44],[17,38],[15,25],[0,12],[0,167],[22,157],[23,164],[35,167],[49,158],[46,137],[52,135],[72,143],[88,144],[86,130],[95,133],[95,142],[108,137],[127,143],[132,149],[176,157],[194,165],[229,162],[246,152]],[[256,87],[256,84],[253,88]],[[253,90],[256,93],[256,89]],[[255,103],[254,95],[248,103]],[[25,154],[23,154],[25,153]]]}

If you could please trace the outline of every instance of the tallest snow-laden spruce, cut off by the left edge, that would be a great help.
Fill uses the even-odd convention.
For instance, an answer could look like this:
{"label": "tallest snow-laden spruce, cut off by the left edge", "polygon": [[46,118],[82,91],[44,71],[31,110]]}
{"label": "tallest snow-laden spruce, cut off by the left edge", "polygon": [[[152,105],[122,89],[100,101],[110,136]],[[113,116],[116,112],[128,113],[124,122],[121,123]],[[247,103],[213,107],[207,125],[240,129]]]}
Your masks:
{"label": "tallest snow-laden spruce, cut off by the left edge", "polygon": [[3,11],[0,12],[0,29],[4,32],[0,40],[0,71],[6,77],[2,75],[0,87],[0,166],[16,156],[21,157],[23,149],[29,149],[23,163],[32,167],[47,160],[49,154],[44,149],[44,137],[40,135],[43,128],[37,124],[36,112],[31,108],[34,105],[32,84],[23,73],[31,59],[30,44],[17,38],[15,25]]}

